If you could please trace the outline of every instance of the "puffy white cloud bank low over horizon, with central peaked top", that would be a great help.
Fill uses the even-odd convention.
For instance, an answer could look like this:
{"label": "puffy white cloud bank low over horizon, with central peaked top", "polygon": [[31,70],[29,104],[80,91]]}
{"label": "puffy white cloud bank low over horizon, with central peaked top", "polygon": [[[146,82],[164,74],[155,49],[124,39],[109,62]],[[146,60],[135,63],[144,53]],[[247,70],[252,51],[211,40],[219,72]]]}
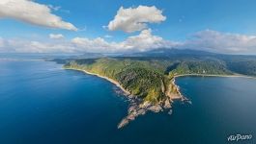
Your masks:
{"label": "puffy white cloud bank low over horizon, with central peaked top", "polygon": [[100,37],[95,39],[75,37],[71,42],[75,44],[76,47],[98,52],[136,52],[175,45],[175,43],[164,40],[160,36],[153,36],[150,29],[143,30],[138,36],[128,36],[127,39],[121,42],[107,42]]}

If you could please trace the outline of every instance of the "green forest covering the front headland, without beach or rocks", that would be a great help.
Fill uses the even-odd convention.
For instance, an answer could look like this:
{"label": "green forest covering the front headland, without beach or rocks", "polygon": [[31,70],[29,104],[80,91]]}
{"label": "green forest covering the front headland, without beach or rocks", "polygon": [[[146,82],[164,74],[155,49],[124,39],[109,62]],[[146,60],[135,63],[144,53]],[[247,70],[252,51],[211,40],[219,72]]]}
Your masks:
{"label": "green forest covering the front headland, without beach or rocks", "polygon": [[84,69],[111,78],[122,84],[131,94],[153,103],[165,99],[162,86],[170,82],[163,74],[161,65],[154,60],[72,60],[65,67]]}

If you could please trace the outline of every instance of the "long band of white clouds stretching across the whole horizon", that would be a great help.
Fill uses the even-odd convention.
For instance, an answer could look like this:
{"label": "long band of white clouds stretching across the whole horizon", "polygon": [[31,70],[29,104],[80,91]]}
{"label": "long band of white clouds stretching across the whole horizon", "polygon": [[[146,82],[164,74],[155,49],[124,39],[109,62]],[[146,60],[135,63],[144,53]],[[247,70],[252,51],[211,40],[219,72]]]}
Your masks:
{"label": "long band of white clouds stretching across the whole horizon", "polygon": [[128,36],[123,41],[107,41],[104,38],[74,37],[71,40],[30,41],[0,37],[0,52],[24,53],[84,53],[84,52],[141,52],[157,48],[196,49],[226,54],[256,55],[256,36],[220,33],[206,30],[189,36],[185,41],[173,42],[154,36],[150,29],[138,36]]}

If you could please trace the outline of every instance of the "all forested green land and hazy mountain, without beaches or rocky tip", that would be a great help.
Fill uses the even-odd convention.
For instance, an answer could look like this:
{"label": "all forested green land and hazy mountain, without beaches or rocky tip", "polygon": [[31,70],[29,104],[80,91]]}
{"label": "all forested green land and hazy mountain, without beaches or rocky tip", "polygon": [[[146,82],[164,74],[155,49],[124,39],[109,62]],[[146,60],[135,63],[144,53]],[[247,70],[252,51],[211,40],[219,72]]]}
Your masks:
{"label": "all forested green land and hazy mountain, without beaches or rocky tip", "polygon": [[[163,50],[161,50],[163,51]],[[256,58],[175,50],[117,58],[69,60],[66,68],[82,69],[117,81],[132,95],[152,103],[163,102],[176,75],[207,74],[256,76]],[[170,85],[170,87],[168,87]]]}

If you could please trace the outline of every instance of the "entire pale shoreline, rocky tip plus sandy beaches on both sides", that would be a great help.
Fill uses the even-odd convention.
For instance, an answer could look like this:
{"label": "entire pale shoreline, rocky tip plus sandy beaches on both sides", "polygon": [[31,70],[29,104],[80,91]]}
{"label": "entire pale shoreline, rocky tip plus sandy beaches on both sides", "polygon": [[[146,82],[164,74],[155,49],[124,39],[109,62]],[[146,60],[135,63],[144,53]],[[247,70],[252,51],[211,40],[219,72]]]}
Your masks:
{"label": "entire pale shoreline, rocky tip plus sandy beaches on both sides", "polygon": [[[136,97],[133,97],[132,95],[130,95],[131,93],[125,89],[122,84],[120,84],[119,82],[102,76],[100,74],[97,73],[92,73],[89,71],[86,71],[84,69],[79,69],[79,68],[66,68],[64,67],[64,69],[70,69],[70,70],[76,70],[76,71],[81,71],[84,72],[86,74],[89,75],[93,75],[93,76],[97,76],[99,78],[102,78],[112,84],[115,84],[117,87],[119,87],[124,94],[128,97],[128,100],[130,101],[129,107],[128,107],[128,115],[126,117],[124,117],[121,122],[118,124],[117,128],[121,129],[125,126],[128,125],[128,123],[130,121],[133,121],[136,117],[138,117],[139,115],[144,115],[147,111],[153,111],[153,112],[159,112],[159,111],[163,111],[163,109],[169,109],[168,114],[172,113],[172,103],[175,100],[179,100],[188,104],[191,104],[191,102],[189,101],[189,99],[187,99],[182,92],[180,91],[180,87],[179,85],[177,85],[176,82],[176,78],[178,77],[185,77],[185,76],[196,76],[196,77],[243,77],[243,78],[250,78],[250,79],[256,79],[256,77],[250,77],[250,76],[244,76],[244,75],[207,75],[207,74],[184,74],[184,75],[176,75],[172,77],[171,83],[168,84],[168,88],[167,88],[167,93],[165,93],[165,95],[168,97],[166,101],[164,102],[160,102],[158,104],[152,104],[151,102],[143,102],[140,101],[139,99],[137,99]],[[170,92],[170,88],[175,88],[176,92],[175,93],[171,93]]]}

